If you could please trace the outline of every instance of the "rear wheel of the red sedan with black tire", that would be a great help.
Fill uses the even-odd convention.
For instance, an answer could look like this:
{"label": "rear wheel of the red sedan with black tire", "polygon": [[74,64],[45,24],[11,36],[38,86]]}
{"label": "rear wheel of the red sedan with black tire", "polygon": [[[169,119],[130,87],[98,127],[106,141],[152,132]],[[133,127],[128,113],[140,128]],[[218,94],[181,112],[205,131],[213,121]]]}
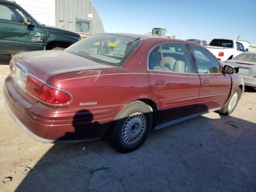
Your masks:
{"label": "rear wheel of the red sedan with black tire", "polygon": [[[140,126],[142,124],[139,124],[139,123],[137,123],[138,124],[138,126],[137,126],[136,122],[130,121],[131,118],[133,118],[133,119],[139,118],[137,116],[139,116],[142,119],[142,121],[144,120],[144,126]],[[129,122],[132,122],[132,123],[129,123]],[[146,124],[145,124],[145,122],[146,122]],[[131,128],[129,129],[130,133],[128,133],[128,134],[131,135],[133,132],[140,133],[140,131],[142,131],[141,127],[144,127],[143,134],[141,134],[141,136],[139,136],[139,134],[138,134],[137,135],[138,139],[134,138],[134,141],[132,141],[132,139],[131,139],[131,141],[130,141],[131,143],[127,144],[127,142],[129,142],[129,139],[127,139],[127,138],[129,138],[129,137],[124,136],[125,130],[123,130],[123,129],[124,129],[125,125],[131,126]],[[147,104],[145,104],[144,102],[134,101],[134,102],[131,102],[130,104],[128,104],[127,106],[125,106],[119,112],[119,114],[116,116],[116,120],[115,120],[113,126],[108,131],[107,140],[108,140],[110,146],[112,146],[112,148],[114,148],[114,150],[116,150],[120,153],[128,153],[133,150],[136,150],[144,143],[144,141],[148,137],[148,134],[150,133],[151,128],[152,128],[152,111],[151,111],[150,107]],[[132,129],[134,129],[135,131]],[[135,135],[136,135],[136,133],[135,133]],[[125,139],[127,141],[125,141]],[[132,143],[132,142],[134,142],[134,143]]]}

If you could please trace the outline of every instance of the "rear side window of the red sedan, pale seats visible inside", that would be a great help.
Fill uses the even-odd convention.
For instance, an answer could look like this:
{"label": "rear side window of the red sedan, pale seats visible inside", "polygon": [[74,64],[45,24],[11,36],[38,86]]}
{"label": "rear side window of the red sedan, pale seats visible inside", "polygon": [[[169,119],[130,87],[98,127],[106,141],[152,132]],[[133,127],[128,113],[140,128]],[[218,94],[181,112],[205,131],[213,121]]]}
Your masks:
{"label": "rear side window of the red sedan, pale seats visible inside", "polygon": [[185,44],[166,43],[155,48],[149,56],[148,68],[177,73],[193,73]]}

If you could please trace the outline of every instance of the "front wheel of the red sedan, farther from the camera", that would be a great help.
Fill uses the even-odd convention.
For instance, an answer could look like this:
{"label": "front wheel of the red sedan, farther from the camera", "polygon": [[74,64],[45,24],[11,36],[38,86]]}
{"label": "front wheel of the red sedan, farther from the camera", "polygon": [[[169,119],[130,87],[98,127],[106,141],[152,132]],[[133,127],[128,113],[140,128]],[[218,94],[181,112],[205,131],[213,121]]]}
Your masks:
{"label": "front wheel of the red sedan, farther from the camera", "polygon": [[217,112],[222,115],[230,115],[234,109],[236,108],[236,105],[241,97],[241,89],[237,88],[237,90],[233,93],[231,98],[228,100],[226,105],[224,105],[220,110]]}

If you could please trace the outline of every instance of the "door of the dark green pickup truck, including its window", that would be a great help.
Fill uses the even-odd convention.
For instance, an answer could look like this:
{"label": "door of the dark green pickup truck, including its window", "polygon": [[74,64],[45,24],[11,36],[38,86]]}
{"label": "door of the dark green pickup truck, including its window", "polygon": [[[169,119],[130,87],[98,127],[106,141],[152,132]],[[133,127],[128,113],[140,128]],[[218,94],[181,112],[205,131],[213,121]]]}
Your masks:
{"label": "door of the dark green pickup truck, including its window", "polygon": [[24,24],[25,15],[12,4],[0,3],[0,53],[44,49],[44,32],[40,26]]}

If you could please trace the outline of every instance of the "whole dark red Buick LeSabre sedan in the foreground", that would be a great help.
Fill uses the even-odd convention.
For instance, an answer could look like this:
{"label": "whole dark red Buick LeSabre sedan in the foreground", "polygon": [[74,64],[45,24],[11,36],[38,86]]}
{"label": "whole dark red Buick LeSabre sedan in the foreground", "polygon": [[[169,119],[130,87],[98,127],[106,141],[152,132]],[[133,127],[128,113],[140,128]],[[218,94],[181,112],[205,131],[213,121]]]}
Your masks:
{"label": "whole dark red Buick LeSabre sedan in the foreground", "polygon": [[136,34],[97,34],[64,51],[16,54],[5,79],[10,116],[41,142],[107,136],[135,150],[152,130],[233,112],[242,77],[204,47]]}

